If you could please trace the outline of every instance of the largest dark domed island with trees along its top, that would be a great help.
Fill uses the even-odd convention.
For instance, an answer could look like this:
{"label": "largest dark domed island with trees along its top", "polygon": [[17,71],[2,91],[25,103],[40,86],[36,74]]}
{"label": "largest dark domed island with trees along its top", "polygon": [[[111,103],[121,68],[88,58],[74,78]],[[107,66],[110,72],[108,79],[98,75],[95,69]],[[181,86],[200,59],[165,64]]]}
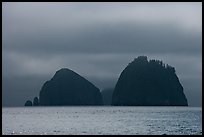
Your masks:
{"label": "largest dark domed island with trees along its top", "polygon": [[112,105],[187,106],[188,103],[173,67],[139,56],[122,71]]}

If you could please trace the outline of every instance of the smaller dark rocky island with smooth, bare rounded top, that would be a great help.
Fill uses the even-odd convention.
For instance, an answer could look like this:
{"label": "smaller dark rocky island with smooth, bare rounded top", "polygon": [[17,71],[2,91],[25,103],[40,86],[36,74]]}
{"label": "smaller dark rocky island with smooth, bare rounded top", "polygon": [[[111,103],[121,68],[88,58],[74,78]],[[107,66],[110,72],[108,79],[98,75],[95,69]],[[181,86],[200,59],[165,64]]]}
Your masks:
{"label": "smaller dark rocky island with smooth, bare rounded top", "polygon": [[102,95],[97,87],[69,69],[60,69],[45,82],[40,91],[40,105],[102,105]]}

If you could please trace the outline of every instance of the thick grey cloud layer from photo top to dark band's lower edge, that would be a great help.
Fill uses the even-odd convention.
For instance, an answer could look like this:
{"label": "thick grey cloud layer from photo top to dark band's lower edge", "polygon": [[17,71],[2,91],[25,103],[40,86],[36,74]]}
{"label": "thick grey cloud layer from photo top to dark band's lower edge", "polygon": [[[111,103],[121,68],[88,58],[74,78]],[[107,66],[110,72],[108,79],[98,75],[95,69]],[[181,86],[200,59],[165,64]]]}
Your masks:
{"label": "thick grey cloud layer from photo top to dark band's lower edge", "polygon": [[35,54],[201,49],[199,3],[108,5],[6,3],[3,46]]}

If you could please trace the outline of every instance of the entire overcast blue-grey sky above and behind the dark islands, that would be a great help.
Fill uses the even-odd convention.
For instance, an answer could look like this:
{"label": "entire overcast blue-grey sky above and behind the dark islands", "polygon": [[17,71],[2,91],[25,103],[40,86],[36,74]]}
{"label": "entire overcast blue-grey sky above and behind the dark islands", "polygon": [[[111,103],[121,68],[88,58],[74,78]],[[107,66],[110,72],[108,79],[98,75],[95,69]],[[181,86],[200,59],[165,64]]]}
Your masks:
{"label": "entire overcast blue-grey sky above and behind the dark islands", "polygon": [[23,106],[57,70],[114,87],[139,55],[176,69],[202,105],[202,3],[3,3],[2,103]]}

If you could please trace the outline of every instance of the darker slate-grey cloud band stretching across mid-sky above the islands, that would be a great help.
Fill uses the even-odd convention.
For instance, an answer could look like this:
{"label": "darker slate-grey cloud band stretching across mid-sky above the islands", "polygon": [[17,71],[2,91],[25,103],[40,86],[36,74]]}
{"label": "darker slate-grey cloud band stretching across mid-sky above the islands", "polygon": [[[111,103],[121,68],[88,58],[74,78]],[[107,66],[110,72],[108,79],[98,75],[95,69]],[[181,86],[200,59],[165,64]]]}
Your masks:
{"label": "darker slate-grey cloud band stretching across mid-sky above the islands", "polygon": [[[5,37],[5,50],[28,54],[59,53],[200,53],[202,38],[174,26],[93,24],[78,32],[39,30]],[[49,49],[49,50],[48,50]]]}

